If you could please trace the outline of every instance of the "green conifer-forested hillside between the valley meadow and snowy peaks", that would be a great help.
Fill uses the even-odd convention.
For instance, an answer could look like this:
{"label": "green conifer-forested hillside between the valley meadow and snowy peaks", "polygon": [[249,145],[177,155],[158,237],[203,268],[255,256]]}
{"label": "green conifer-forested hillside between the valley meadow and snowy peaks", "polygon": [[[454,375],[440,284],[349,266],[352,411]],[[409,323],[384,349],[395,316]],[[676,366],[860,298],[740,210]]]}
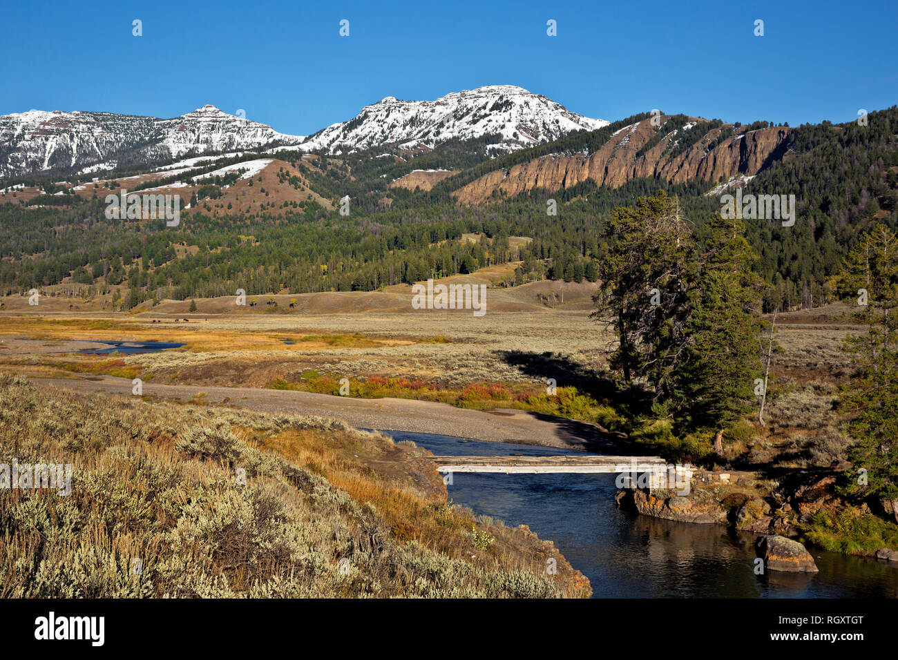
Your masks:
{"label": "green conifer-forested hillside between the valley meadow and snowy peaks", "polygon": [[[251,295],[283,289],[291,293],[374,290],[518,260],[522,263],[515,271],[516,284],[544,277],[594,280],[607,250],[605,223],[614,207],[665,189],[680,198],[694,232],[702,239],[709,220],[720,209],[718,197],[708,194],[713,185],[706,180],[672,184],[635,178],[609,188],[586,180],[564,189],[531,189],[515,198],[497,196],[474,206],[458,204],[452,193],[485,172],[547,154],[594,152],[621,128],[647,117],[637,115],[497,158],[489,158],[493,139],[489,136],[452,141],[429,151],[398,146],[385,153],[382,149],[342,156],[281,151],[277,158],[297,173],[281,167],[278,186],[304,196],[309,193],[309,198],[277,203],[273,200],[277,190],[256,183],[250,189],[255,205],[250,211],[232,210],[230,203],[223,202],[221,196],[236,176],[201,184],[198,180],[198,172],[209,172],[222,163],[239,165],[259,158],[259,154],[242,154],[165,180],[183,186],[182,194],[190,195],[191,207],[182,212],[176,227],[110,220],[104,215],[102,196],[90,184],[74,194],[75,181],[32,177],[15,181],[19,189],[11,189],[10,181],[0,182],[4,189],[0,290],[13,295],[32,287],[76,283],[87,287],[88,293],[105,293],[122,287],[121,304],[128,308],[145,300],[233,295],[238,288]],[[674,130],[682,134],[688,126],[686,119],[670,117],[669,126],[657,129],[657,139],[673,136]],[[721,128],[718,120],[700,122],[682,140],[668,140],[663,158],[674,158],[692,145],[713,147],[707,144],[712,132],[721,139],[726,129],[730,139],[736,130],[762,126],[767,123]],[[390,185],[414,170],[431,169],[456,173],[431,190]],[[113,174],[103,176],[103,180],[113,178]],[[756,268],[771,285],[766,307],[807,306],[832,298],[830,280],[858,235],[874,222],[896,227],[896,179],[898,108],[871,113],[866,126],[825,122],[789,129],[786,153],[744,187],[746,194],[797,197],[794,226],[773,220],[745,222],[748,239],[761,255]],[[253,182],[249,180],[250,185]],[[119,183],[128,185],[123,180]],[[25,203],[20,193],[26,184],[36,184],[43,197]],[[320,196],[321,204],[312,199],[312,192]],[[348,215],[341,215],[339,200],[346,196]],[[547,213],[549,199],[557,203],[556,215]],[[332,207],[323,206],[323,200]],[[477,236],[462,240],[463,234]],[[513,236],[533,241],[509,242]]]}

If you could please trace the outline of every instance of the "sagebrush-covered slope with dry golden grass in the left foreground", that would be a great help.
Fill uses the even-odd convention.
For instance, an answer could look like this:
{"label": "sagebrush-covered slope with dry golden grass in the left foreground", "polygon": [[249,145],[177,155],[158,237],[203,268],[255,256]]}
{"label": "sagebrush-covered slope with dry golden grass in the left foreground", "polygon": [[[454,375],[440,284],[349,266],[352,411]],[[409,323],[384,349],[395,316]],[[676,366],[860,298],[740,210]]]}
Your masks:
{"label": "sagebrush-covered slope with dry golden grass in the left foreground", "polygon": [[[0,488],[0,597],[589,593],[520,566],[507,528],[480,565],[450,556],[470,550],[470,516],[449,509],[439,524],[418,489],[351,458],[363,452],[422,450],[330,418],[80,395],[0,373],[0,462],[73,466],[68,496]],[[400,516],[414,519],[405,538],[392,533]]]}

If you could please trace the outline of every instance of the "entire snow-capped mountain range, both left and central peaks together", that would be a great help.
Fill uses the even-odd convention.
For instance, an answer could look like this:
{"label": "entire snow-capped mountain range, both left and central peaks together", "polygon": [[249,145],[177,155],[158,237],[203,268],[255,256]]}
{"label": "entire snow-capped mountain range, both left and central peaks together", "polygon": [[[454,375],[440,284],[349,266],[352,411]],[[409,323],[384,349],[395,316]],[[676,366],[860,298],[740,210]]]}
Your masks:
{"label": "entire snow-capped mountain range, both left and central peaks together", "polygon": [[496,153],[550,142],[607,126],[514,85],[450,92],[436,101],[386,96],[353,119],[312,136],[293,136],[204,105],[159,119],[89,110],[29,110],[0,116],[0,178],[35,172],[72,172],[151,163],[186,154],[211,154],[269,145],[328,154],[400,145],[427,150],[452,140],[490,137]]}

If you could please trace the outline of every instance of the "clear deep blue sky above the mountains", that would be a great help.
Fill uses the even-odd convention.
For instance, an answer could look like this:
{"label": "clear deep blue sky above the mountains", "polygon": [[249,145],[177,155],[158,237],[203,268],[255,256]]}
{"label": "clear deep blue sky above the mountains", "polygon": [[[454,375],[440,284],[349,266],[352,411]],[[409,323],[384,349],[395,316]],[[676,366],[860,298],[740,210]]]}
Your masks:
{"label": "clear deep blue sky above the mountains", "polygon": [[174,117],[212,103],[305,135],[384,96],[484,84],[609,120],[659,108],[794,126],[898,103],[898,2],[784,4],[8,3],[0,114]]}

